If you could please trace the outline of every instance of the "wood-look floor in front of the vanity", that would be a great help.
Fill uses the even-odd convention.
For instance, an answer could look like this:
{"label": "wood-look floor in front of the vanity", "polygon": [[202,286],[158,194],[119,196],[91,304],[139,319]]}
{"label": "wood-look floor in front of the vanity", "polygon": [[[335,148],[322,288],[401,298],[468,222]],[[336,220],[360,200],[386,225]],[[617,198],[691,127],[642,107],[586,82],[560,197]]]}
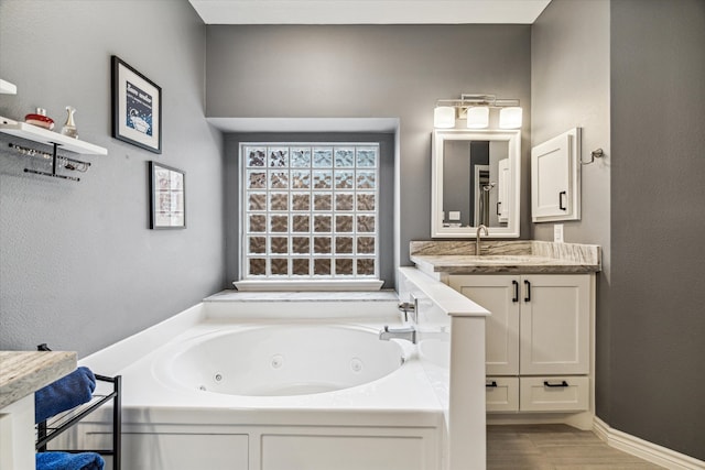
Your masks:
{"label": "wood-look floor in front of the vanity", "polygon": [[590,431],[566,425],[488,426],[488,470],[655,470],[607,446]]}

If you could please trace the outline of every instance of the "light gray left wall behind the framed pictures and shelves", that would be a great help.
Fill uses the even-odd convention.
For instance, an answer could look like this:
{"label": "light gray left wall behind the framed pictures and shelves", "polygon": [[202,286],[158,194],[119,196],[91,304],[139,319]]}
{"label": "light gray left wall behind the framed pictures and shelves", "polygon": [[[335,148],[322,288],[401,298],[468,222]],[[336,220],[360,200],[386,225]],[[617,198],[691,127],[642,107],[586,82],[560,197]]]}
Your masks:
{"label": "light gray left wall behind the framed pictures and shelves", "polygon": [[[77,109],[83,140],[108,149],[79,183],[0,134],[0,349],[98,350],[223,286],[221,138],[204,119],[206,28],[185,1],[0,1],[0,114]],[[163,153],[110,135],[110,55],[162,87]],[[149,230],[148,161],[186,172],[185,230]]]}

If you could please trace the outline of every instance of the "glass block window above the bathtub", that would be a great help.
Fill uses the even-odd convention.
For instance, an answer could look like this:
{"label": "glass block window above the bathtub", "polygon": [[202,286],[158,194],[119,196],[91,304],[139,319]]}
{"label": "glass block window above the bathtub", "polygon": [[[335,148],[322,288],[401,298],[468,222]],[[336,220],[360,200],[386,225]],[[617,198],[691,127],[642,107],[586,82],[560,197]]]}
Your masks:
{"label": "glass block window above the bathtub", "polygon": [[379,144],[240,145],[243,280],[379,277]]}

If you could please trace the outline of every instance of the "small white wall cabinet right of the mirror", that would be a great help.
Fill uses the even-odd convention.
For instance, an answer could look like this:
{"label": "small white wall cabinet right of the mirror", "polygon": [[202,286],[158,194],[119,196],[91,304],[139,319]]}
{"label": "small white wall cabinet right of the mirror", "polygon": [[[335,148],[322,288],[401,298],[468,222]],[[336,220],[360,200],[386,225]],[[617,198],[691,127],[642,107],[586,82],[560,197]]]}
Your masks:
{"label": "small white wall cabinet right of the mirror", "polygon": [[531,217],[534,222],[581,219],[581,129],[531,149]]}

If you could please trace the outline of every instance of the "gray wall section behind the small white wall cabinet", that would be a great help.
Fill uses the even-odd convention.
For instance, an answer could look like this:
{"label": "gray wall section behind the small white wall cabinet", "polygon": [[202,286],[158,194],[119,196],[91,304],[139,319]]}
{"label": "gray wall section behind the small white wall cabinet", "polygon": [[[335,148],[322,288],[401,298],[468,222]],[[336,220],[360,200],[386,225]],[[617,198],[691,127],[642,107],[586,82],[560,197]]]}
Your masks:
{"label": "gray wall section behind the small white wall cabinet", "polygon": [[[596,406],[609,406],[610,129],[609,0],[553,0],[531,30],[531,144],[582,128],[583,159],[601,147],[607,157],[582,170],[582,218],[560,222],[571,243],[599,244],[597,277]],[[554,223],[534,223],[535,240],[553,240]]]}

